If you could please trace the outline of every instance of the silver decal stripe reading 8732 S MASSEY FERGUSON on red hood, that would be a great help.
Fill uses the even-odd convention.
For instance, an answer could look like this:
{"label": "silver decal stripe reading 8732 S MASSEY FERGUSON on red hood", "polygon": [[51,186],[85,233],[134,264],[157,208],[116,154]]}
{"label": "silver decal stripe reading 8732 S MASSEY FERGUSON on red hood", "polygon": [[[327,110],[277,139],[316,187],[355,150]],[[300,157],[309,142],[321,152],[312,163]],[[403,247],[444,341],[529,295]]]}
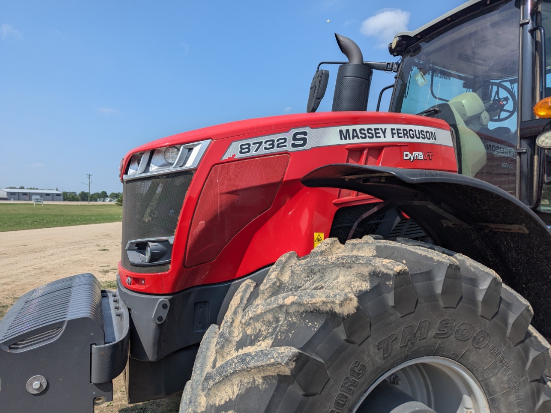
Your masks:
{"label": "silver decal stripe reading 8732 S MASSEY FERGUSON on red hood", "polygon": [[291,129],[289,132],[259,136],[233,142],[222,159],[244,158],[280,152],[292,152],[318,146],[353,143],[430,143],[452,146],[451,133],[430,126],[404,124],[361,124],[312,129]]}

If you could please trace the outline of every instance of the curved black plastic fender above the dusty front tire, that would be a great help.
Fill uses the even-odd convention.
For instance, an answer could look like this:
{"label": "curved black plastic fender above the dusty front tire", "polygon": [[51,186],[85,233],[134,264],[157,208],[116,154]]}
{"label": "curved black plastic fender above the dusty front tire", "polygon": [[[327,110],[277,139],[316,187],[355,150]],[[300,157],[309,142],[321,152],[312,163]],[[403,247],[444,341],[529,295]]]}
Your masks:
{"label": "curved black plastic fender above the dusty front tire", "polygon": [[455,173],[350,164],[323,166],[301,182],[363,192],[403,211],[437,245],[495,270],[530,301],[532,324],[551,337],[551,232],[509,193]]}

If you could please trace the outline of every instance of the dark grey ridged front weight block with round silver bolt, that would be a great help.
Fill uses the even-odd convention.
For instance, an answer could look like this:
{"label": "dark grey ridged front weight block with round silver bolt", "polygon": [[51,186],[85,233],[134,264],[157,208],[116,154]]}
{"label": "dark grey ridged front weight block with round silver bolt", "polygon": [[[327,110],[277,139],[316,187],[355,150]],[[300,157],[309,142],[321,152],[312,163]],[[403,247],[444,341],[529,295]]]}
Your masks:
{"label": "dark grey ridged front weight block with round silver bolt", "polygon": [[128,357],[128,311],[91,274],[50,282],[0,320],[2,411],[93,412]]}

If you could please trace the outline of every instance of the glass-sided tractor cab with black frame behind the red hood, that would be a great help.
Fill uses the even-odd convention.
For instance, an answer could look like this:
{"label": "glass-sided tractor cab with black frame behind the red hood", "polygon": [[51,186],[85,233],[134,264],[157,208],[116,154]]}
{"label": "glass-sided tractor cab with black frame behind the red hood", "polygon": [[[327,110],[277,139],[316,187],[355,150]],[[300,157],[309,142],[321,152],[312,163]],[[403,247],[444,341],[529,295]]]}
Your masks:
{"label": "glass-sided tractor cab with black frame behind the red hood", "polygon": [[396,35],[388,46],[401,56],[390,111],[444,119],[455,133],[459,173],[551,211],[545,149],[536,144],[549,119],[533,112],[549,95],[551,3],[534,2],[531,10],[515,1],[484,3]]}

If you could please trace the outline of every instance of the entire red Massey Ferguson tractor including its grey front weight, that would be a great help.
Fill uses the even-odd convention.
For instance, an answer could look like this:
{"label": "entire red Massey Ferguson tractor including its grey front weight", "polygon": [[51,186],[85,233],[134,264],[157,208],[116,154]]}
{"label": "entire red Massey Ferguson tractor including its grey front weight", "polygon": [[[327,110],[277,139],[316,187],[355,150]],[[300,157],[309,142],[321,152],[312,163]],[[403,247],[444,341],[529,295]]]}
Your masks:
{"label": "entire red Massey Ferguson tractor including its grey front weight", "polygon": [[551,411],[550,26],[472,0],[397,63],[336,35],[332,112],[318,67],[307,113],[130,151],[117,290],[15,303],[0,410],[93,411],[125,371],[130,403],[184,389],[182,412]]}

